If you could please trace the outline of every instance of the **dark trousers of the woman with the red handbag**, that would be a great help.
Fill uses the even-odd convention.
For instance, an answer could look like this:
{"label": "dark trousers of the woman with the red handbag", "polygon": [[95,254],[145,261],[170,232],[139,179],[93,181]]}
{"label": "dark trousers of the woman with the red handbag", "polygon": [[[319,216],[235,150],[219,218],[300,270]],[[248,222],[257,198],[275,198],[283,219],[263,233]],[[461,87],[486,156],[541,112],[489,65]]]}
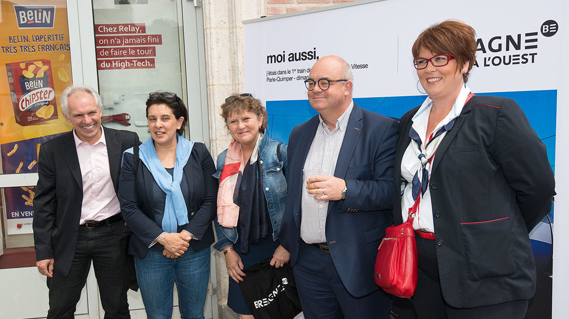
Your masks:
{"label": "dark trousers of the woman with the red handbag", "polygon": [[412,298],[419,319],[523,319],[527,300],[513,300],[496,305],[475,308],[453,308],[440,290],[439,267],[435,241],[417,236],[419,277],[417,291]]}

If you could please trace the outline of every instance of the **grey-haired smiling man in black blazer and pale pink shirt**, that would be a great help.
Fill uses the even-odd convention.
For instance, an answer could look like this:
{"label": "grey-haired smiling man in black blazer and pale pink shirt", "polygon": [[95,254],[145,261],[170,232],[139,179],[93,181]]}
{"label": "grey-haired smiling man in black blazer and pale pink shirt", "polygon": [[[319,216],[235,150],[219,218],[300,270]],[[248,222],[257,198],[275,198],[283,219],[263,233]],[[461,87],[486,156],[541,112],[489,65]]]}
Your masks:
{"label": "grey-haired smiling man in black blazer and pale pink shirt", "polygon": [[105,318],[130,318],[118,240],[122,152],[134,132],[101,126],[101,97],[72,86],[60,98],[73,130],[40,146],[34,198],[36,265],[50,289],[48,318],[73,318],[91,261]]}

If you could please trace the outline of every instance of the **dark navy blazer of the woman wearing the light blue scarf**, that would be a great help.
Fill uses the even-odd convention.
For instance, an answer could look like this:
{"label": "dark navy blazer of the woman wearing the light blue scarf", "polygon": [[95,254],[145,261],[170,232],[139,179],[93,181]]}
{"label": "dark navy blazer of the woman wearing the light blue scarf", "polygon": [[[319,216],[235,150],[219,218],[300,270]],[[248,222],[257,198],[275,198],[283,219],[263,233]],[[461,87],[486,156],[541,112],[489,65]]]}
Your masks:
{"label": "dark navy blazer of the woman wearing the light blue scarf", "polygon": [[[196,239],[189,242],[194,251],[209,247],[214,241],[212,221],[217,213],[218,188],[214,173],[211,154],[205,144],[196,142],[184,166],[189,190],[189,194],[183,194],[188,208],[188,223],[178,226],[178,232],[186,230],[195,236]],[[163,232],[162,215],[154,212],[154,177],[142,161],[139,161],[135,173],[134,156],[125,153],[120,181],[118,200],[121,202],[122,215],[134,233],[129,239],[129,253],[142,259],[150,244]],[[163,249],[162,246],[160,248]]]}

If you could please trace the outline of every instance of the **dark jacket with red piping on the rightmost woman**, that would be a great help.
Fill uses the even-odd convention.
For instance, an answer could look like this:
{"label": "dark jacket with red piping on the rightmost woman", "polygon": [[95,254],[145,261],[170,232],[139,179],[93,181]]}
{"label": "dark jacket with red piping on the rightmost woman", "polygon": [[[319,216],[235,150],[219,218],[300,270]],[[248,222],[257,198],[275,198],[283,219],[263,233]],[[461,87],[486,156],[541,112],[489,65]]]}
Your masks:
{"label": "dark jacket with red piping on the rightmost woman", "polygon": [[[401,118],[395,191],[414,108]],[[440,142],[429,182],[444,301],[472,308],[531,298],[528,233],[551,210],[555,179],[543,142],[516,101],[474,96]],[[395,198],[395,224],[402,223]]]}

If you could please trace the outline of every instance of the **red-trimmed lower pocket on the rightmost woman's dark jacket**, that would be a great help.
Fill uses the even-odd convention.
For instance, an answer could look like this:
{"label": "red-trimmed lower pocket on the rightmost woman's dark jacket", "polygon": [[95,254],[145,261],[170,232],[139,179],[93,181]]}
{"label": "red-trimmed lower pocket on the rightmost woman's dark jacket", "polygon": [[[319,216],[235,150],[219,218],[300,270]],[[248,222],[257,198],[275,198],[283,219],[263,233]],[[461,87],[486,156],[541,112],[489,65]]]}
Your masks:
{"label": "red-trimmed lower pocket on the rightmost woman's dark jacket", "polygon": [[514,252],[508,217],[461,223],[460,228],[469,280],[512,275]]}

